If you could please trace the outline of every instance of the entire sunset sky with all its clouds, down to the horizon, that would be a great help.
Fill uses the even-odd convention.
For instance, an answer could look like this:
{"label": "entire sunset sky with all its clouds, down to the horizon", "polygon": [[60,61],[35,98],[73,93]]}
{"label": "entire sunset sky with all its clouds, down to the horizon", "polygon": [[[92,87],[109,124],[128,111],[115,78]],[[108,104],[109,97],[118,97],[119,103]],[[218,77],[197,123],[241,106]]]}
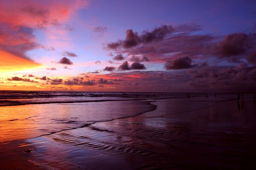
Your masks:
{"label": "entire sunset sky with all its clouds, down to the horizon", "polygon": [[256,92],[256,1],[1,0],[0,90]]}

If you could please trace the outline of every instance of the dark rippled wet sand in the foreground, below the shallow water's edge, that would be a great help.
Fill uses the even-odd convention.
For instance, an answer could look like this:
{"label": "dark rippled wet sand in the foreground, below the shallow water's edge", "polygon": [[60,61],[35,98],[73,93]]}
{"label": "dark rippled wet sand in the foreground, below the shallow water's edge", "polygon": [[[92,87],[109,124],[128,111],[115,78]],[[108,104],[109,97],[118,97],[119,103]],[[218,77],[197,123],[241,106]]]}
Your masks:
{"label": "dark rippled wet sand in the foreground, below the shallow water's edge", "polygon": [[[254,169],[256,105],[209,96],[138,116],[0,144],[1,169]],[[30,153],[23,152],[30,148]]]}

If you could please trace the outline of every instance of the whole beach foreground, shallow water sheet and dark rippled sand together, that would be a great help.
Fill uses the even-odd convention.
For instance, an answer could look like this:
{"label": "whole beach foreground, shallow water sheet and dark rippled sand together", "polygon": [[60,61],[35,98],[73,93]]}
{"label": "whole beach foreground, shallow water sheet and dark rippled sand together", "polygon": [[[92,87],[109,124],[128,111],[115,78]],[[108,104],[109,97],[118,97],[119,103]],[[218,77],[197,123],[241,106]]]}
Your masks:
{"label": "whole beach foreground, shallow water sheet and dark rippled sand together", "polygon": [[20,113],[1,122],[0,169],[256,166],[252,94],[244,95],[239,105],[236,94],[180,96],[0,107],[5,115]]}

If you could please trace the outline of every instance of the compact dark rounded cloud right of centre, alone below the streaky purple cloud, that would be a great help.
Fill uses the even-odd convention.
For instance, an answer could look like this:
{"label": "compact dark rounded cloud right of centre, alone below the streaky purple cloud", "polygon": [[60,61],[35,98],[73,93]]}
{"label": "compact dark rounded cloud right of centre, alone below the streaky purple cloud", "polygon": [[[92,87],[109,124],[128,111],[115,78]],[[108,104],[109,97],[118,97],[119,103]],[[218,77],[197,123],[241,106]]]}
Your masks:
{"label": "compact dark rounded cloud right of centre, alone below the streaky purple cloud", "polygon": [[165,68],[166,70],[192,68],[193,65],[191,63],[192,63],[192,59],[189,57],[177,57],[174,59],[167,60],[165,64]]}

